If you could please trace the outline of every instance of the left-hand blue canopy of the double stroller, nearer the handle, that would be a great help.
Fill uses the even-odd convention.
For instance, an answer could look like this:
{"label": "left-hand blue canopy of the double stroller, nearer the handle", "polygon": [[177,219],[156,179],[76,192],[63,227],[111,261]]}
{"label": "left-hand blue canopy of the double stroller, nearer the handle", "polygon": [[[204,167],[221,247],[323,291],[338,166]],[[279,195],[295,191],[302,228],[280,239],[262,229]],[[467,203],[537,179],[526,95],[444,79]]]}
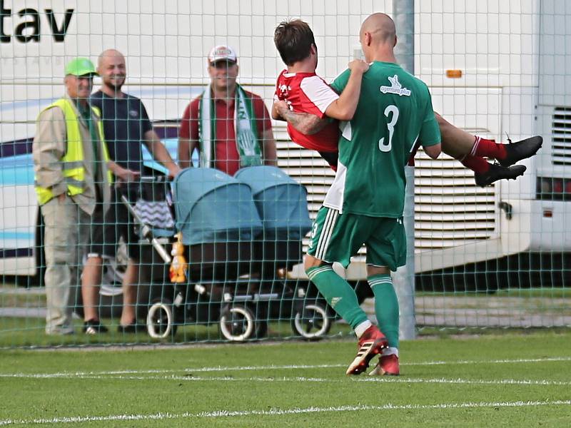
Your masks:
{"label": "left-hand blue canopy of the double stroller, nearer the handle", "polygon": [[183,244],[252,240],[262,231],[250,187],[213,168],[187,168],[173,183]]}

